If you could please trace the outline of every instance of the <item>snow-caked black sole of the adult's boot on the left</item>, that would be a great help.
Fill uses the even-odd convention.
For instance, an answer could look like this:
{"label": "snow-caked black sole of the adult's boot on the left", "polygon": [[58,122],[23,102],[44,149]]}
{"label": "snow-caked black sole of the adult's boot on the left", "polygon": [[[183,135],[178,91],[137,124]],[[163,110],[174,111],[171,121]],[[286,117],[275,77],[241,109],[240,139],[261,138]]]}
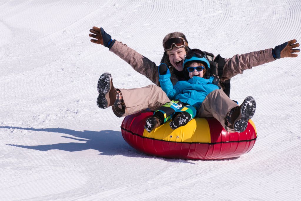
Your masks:
{"label": "snow-caked black sole of the adult's boot on the left", "polygon": [[109,91],[112,87],[112,75],[110,73],[104,73],[102,74],[97,83],[97,91],[98,91],[98,97],[97,97],[97,106],[99,108],[105,109],[109,106],[110,97],[109,97]]}

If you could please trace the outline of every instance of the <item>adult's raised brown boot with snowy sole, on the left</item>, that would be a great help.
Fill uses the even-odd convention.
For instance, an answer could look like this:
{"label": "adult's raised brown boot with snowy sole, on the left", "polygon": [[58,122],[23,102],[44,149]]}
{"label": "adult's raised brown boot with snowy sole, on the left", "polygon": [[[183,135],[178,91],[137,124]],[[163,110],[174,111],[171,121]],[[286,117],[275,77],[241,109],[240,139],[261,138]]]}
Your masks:
{"label": "adult's raised brown boot with snowy sole, on the left", "polygon": [[97,83],[98,107],[104,109],[112,106],[116,100],[116,89],[113,86],[112,75],[110,73],[102,74]]}

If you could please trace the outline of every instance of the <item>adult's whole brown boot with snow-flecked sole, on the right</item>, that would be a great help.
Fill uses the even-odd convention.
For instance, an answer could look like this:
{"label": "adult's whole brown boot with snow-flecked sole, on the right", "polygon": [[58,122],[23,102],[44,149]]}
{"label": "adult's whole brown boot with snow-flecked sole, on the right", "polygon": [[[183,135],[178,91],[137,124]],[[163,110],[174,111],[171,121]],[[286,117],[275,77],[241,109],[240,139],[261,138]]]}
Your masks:
{"label": "adult's whole brown boot with snow-flecked sole, on the right", "polygon": [[234,129],[237,133],[244,132],[247,129],[249,120],[253,117],[256,110],[256,102],[253,97],[248,96],[244,102],[233,109],[231,109],[226,121],[229,128]]}

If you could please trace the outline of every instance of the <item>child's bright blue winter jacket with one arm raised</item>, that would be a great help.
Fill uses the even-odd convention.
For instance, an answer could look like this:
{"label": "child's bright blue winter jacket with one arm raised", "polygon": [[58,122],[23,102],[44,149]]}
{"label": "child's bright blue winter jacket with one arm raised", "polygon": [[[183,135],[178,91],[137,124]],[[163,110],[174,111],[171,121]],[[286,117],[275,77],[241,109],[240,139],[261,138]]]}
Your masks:
{"label": "child's bright blue winter jacket with one arm raised", "polygon": [[218,86],[212,84],[214,77],[205,79],[203,77],[192,77],[188,81],[178,81],[174,86],[170,81],[170,74],[159,75],[159,82],[163,91],[170,100],[179,99],[183,103],[187,103],[196,108],[202,105],[206,96],[219,89]]}

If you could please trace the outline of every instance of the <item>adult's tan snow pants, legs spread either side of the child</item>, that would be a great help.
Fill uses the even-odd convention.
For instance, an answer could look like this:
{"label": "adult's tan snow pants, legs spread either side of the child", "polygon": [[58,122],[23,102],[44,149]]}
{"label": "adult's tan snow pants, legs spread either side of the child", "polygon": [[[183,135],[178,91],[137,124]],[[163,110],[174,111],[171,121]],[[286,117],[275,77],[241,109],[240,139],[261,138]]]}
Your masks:
{"label": "adult's tan snow pants, legs spread either side of the child", "polygon": [[[136,89],[119,89],[122,93],[125,108],[112,106],[113,112],[117,117],[124,117],[135,114],[147,108],[152,111],[169,102],[166,93],[157,85],[148,85]],[[201,107],[198,109],[196,117],[216,118],[225,128],[225,117],[232,108],[238,106],[234,101],[223,92],[214,90],[206,96]],[[229,130],[228,132],[235,132]]]}

